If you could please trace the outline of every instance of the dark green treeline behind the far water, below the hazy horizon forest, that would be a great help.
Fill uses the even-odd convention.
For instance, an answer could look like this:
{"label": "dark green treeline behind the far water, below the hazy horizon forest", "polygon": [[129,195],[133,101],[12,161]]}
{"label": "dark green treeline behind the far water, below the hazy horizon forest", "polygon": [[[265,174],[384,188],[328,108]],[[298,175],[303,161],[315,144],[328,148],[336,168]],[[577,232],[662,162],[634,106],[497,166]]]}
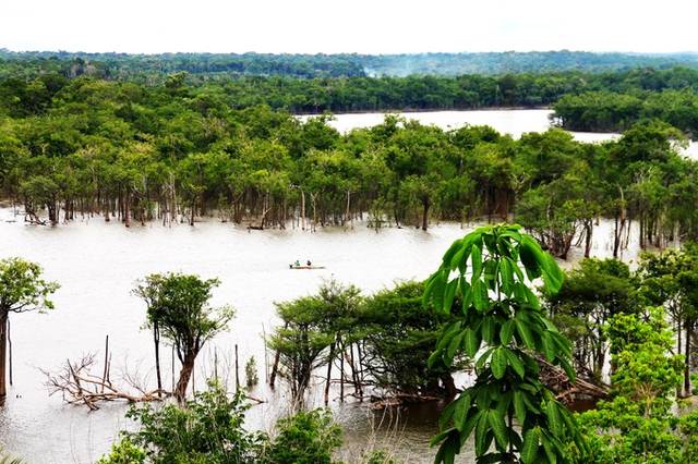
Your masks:
{"label": "dark green treeline behind the far water, below the hazy horizon forest", "polygon": [[[0,76],[3,75],[2,69],[0,64]],[[40,114],[48,108],[53,95],[70,81],[69,76],[59,72],[46,72],[34,77],[9,74],[0,77],[0,111],[13,117]],[[82,73],[80,77],[85,78],[84,74],[89,73]],[[132,84],[145,85],[137,82]],[[242,76],[206,82],[200,82],[188,73],[177,73],[151,84],[165,87],[181,85],[188,85],[200,98],[222,100],[231,108],[267,105],[273,109],[296,113],[538,107],[554,105],[565,96],[581,95],[555,106],[566,127],[622,130],[634,121],[654,117],[695,133],[696,125],[691,122],[696,115],[693,96],[698,89],[698,70],[674,68],[597,74],[565,72],[308,80]],[[664,94],[657,96],[655,93]],[[682,115],[639,110],[642,101],[646,101],[645,106],[661,107],[664,100],[667,105],[679,105],[683,108]],[[691,114],[693,120],[686,117]]]}

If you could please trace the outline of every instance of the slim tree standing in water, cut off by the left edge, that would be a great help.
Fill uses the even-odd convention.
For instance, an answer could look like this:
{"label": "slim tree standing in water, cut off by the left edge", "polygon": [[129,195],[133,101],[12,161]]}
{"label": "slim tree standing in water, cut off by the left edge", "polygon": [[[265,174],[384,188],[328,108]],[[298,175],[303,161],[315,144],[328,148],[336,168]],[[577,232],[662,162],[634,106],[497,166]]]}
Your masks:
{"label": "slim tree standing in water, cut off by the left edge", "polygon": [[0,259],[0,401],[8,394],[5,384],[10,313],[52,309],[56,282],[41,279],[41,267],[21,258]]}

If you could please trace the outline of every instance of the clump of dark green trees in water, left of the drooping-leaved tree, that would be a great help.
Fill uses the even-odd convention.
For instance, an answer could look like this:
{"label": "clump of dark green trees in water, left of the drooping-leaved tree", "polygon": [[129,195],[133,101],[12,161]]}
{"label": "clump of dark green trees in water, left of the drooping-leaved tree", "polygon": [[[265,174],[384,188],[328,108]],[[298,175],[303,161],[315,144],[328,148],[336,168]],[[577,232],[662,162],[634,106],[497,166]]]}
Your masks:
{"label": "clump of dark green trees in water, left of the drooping-leaved tree", "polygon": [[376,398],[407,402],[452,398],[452,374],[468,359],[459,356],[449,366],[428,365],[448,318],[433,318],[423,310],[423,283],[405,282],[364,297],[354,286],[330,281],[316,295],[277,304],[282,326],[268,344],[276,352],[278,375],[287,381],[294,405],[303,404],[303,393],[313,387],[313,373],[325,375],[326,402],[334,377],[345,379],[340,401],[346,395],[345,383],[361,400],[364,389]]}

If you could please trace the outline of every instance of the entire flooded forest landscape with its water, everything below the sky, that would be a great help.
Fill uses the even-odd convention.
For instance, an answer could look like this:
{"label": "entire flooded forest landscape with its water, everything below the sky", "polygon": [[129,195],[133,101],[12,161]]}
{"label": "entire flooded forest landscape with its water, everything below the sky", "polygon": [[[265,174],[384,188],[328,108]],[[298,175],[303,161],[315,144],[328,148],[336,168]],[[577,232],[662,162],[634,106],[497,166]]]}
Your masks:
{"label": "entire flooded forest landscape with its water, everything below the sky", "polygon": [[0,462],[693,462],[696,68],[0,50]]}

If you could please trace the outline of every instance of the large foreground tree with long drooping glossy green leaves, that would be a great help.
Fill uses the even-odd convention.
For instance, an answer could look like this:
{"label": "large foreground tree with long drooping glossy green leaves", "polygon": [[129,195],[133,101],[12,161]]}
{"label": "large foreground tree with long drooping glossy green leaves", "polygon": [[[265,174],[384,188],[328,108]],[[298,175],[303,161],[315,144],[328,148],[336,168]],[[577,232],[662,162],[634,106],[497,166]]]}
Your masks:
{"label": "large foreground tree with long drooping glossy green leaves", "polygon": [[520,227],[489,225],[454,242],[429,279],[424,303],[455,319],[430,362],[450,365],[465,351],[477,373],[442,413],[436,462],[453,463],[473,431],[479,462],[567,462],[569,440],[586,450],[573,415],[539,379],[537,353],[575,376],[569,342],[530,288],[539,278],[544,292],[563,283],[555,260]]}

